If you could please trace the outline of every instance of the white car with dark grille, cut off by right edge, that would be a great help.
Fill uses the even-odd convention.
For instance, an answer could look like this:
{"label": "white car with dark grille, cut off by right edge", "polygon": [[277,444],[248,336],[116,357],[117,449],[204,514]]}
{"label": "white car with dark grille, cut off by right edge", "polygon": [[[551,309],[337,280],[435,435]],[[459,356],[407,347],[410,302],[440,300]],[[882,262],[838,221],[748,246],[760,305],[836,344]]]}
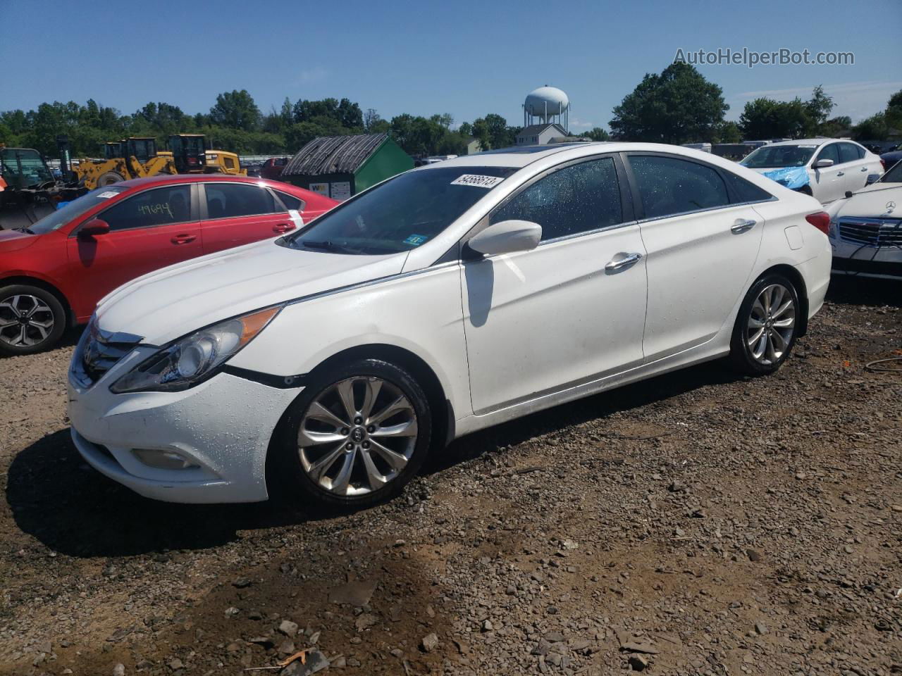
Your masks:
{"label": "white car with dark grille, cut off by right edge", "polygon": [[902,162],[827,211],[835,274],[902,279]]}

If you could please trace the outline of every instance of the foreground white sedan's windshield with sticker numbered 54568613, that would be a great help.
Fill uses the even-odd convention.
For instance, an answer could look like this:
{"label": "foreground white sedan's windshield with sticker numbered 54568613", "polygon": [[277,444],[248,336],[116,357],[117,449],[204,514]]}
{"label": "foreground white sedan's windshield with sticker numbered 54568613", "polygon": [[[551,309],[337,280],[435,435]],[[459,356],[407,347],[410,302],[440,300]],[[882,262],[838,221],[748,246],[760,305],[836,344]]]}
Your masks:
{"label": "foreground white sedan's windshield with sticker numbered 54568613", "polygon": [[294,249],[377,255],[416,249],[517,169],[408,171],[355,196],[283,243]]}

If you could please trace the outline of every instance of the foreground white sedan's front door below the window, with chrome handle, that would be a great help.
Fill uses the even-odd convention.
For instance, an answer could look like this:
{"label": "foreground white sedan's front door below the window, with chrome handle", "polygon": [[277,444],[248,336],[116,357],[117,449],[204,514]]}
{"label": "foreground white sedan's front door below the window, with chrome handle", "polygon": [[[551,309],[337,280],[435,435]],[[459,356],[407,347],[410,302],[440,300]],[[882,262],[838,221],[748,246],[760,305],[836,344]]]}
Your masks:
{"label": "foreground white sedan's front door below the window, with chrome handle", "polygon": [[[618,254],[643,258],[620,270]],[[470,388],[476,413],[642,361],[645,249],[639,226],[465,263]]]}

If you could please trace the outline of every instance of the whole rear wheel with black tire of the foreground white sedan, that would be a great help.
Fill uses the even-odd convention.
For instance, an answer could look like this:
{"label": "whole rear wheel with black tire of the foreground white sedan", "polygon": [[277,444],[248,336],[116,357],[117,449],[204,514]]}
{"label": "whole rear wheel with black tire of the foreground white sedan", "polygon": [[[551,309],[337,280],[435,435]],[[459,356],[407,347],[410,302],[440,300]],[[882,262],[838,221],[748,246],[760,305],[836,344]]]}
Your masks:
{"label": "whole rear wheel with black tire of the foreground white sedan", "polygon": [[730,358],[741,373],[762,376],[778,370],[800,324],[795,285],[777,272],[760,277],[742,300],[730,342]]}

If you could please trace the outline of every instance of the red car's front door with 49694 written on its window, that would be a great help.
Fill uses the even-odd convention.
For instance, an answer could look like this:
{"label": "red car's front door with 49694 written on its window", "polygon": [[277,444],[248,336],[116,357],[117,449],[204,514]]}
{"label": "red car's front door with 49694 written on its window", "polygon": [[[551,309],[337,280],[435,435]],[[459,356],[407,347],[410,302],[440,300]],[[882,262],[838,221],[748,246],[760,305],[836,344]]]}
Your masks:
{"label": "red car's front door with 49694 written on its window", "polygon": [[[110,232],[67,240],[69,275],[93,306],[125,282],[203,253],[200,225],[189,220],[190,187],[145,190],[100,212]],[[79,313],[80,315],[81,313]]]}

